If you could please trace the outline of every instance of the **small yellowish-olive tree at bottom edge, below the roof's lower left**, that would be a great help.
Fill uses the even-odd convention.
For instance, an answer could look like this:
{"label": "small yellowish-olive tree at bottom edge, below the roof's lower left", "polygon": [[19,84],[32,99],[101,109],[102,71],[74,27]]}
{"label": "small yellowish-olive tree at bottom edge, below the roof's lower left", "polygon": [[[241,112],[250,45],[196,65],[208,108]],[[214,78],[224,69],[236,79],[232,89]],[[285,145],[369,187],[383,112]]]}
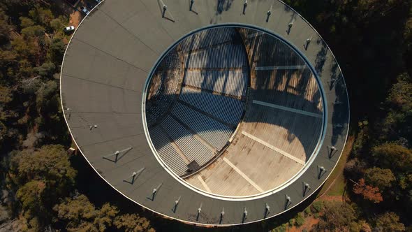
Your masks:
{"label": "small yellowish-olive tree at bottom edge, below the roof's lower left", "polygon": [[138,214],[124,214],[115,218],[114,222],[117,229],[126,232],[141,232],[141,231],[154,231],[150,227],[150,222],[145,217],[139,217]]}

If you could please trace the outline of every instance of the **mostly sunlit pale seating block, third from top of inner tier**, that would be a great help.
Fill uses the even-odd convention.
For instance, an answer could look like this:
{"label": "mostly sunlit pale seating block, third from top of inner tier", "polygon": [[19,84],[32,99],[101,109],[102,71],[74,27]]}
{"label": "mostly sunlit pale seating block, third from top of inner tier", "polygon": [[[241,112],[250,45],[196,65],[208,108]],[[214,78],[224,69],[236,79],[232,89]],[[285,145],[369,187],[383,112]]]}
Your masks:
{"label": "mostly sunlit pale seating block, third from top of inner tier", "polygon": [[186,71],[184,85],[232,96],[245,96],[247,76],[244,71]]}

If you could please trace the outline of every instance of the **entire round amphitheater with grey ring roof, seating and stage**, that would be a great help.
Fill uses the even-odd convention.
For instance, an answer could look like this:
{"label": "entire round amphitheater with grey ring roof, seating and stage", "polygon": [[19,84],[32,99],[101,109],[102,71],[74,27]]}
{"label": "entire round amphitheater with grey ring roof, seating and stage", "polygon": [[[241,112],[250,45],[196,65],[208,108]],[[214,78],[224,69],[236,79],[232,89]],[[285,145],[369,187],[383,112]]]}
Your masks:
{"label": "entire round amphitheater with grey ring roof, seating and stage", "polygon": [[346,143],[330,48],[278,0],[105,0],[61,68],[78,149],[120,194],[203,226],[258,222],[314,194]]}

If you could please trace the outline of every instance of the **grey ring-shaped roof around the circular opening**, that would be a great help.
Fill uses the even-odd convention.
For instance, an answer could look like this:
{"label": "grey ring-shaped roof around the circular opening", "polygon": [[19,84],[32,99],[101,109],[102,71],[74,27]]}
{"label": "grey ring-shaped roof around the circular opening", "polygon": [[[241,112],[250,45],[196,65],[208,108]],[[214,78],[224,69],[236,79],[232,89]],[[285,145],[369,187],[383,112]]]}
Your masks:
{"label": "grey ring-shaped roof around the circular opening", "polygon": [[[189,8],[186,0],[105,0],[84,18],[61,68],[61,103],[73,139],[108,184],[166,217],[232,225],[290,210],[321,187],[346,143],[349,103],[339,65],[316,30],[281,1],[248,1],[246,8],[243,1],[194,1]],[[147,136],[145,87],[155,64],[187,34],[218,25],[256,27],[282,38],[307,60],[323,89],[325,126],[318,154],[297,180],[256,199],[219,198],[193,190],[156,159]],[[116,151],[119,155],[113,161]],[[133,184],[132,173],[137,173]],[[310,186],[305,194],[304,183]]]}

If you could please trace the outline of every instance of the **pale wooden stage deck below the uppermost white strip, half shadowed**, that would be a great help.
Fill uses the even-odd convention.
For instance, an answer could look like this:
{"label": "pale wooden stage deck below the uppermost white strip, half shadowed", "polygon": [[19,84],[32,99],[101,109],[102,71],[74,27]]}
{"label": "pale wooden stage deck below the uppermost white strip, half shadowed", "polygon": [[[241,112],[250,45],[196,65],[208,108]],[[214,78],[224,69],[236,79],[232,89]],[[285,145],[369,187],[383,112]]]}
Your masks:
{"label": "pale wooden stage deck below the uppermost white strip, half shadowed", "polygon": [[[256,64],[256,63],[255,63]],[[247,112],[233,143],[186,181],[223,196],[251,196],[284,184],[314,152],[323,105],[309,69],[254,70]]]}

